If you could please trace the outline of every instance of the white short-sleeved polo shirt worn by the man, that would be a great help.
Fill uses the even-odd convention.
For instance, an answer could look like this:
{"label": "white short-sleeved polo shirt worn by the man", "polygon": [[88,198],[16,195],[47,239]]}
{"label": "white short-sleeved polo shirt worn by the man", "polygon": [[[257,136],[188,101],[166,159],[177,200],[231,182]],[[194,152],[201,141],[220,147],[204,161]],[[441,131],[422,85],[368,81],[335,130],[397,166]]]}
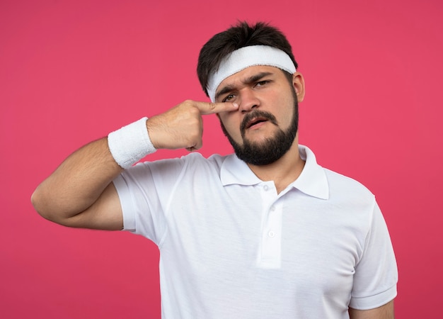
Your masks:
{"label": "white short-sleeved polo shirt worn by the man", "polygon": [[162,318],[349,318],[396,296],[374,196],[307,147],[280,194],[235,155],[139,163],[114,184],[125,230],[161,252]]}

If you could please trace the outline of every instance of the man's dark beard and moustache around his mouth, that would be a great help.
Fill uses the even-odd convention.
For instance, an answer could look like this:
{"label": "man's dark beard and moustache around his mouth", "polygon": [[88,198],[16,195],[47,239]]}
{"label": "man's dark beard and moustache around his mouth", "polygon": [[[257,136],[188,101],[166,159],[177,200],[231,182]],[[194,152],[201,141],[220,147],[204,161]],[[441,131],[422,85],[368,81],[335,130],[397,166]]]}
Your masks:
{"label": "man's dark beard and moustache around his mouth", "polygon": [[248,113],[243,118],[240,128],[243,145],[236,142],[231,137],[231,135],[229,135],[222,121],[220,121],[223,133],[224,135],[226,135],[226,138],[228,138],[229,142],[234,148],[234,152],[239,159],[248,164],[267,165],[277,161],[277,159],[280,159],[284,154],[286,154],[289,148],[291,148],[299,128],[299,105],[297,102],[295,91],[293,91],[293,96],[294,113],[292,115],[292,121],[289,125],[289,128],[287,128],[287,130],[282,130],[281,128],[278,128],[275,135],[265,138],[265,140],[263,140],[262,142],[251,142],[250,140],[247,140],[245,138],[246,123],[248,123],[251,118],[260,117],[266,118],[267,121],[270,121],[270,123],[277,125],[275,116],[273,116],[269,112],[256,110]]}

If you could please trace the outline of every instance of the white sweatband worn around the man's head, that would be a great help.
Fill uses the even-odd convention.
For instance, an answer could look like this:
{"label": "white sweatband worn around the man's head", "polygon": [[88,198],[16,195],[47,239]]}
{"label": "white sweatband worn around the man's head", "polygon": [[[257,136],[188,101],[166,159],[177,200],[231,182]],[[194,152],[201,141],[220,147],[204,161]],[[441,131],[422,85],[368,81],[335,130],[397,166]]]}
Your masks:
{"label": "white sweatband worn around the man's head", "polygon": [[241,47],[229,55],[226,55],[220,63],[217,72],[209,74],[207,93],[212,102],[215,101],[215,91],[226,77],[231,77],[247,67],[255,65],[269,65],[278,67],[284,71],[294,74],[296,69],[289,55],[282,50],[267,45],[251,45]]}

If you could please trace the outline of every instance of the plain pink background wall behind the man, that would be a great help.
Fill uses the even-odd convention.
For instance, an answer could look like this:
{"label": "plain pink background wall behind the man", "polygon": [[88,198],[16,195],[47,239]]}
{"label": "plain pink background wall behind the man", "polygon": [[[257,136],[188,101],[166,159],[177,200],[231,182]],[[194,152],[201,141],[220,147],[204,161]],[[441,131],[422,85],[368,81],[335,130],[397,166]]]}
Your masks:
{"label": "plain pink background wall behind the man", "polygon": [[[398,259],[398,318],[437,318],[443,5],[358,2],[1,1],[1,317],[159,318],[154,244],[54,225],[30,194],[86,142],[185,99],[207,101],[197,54],[241,19],[270,21],[293,45],[307,91],[301,143],[376,194]],[[201,152],[231,152],[215,116],[205,117]]]}

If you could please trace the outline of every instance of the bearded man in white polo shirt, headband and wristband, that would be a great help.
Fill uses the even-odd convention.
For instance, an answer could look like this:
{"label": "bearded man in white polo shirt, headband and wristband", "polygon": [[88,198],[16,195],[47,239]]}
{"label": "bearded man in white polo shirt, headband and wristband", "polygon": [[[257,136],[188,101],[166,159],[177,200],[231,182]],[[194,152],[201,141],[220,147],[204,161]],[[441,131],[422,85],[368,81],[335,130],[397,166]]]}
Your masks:
{"label": "bearded man in white polo shirt, headband and wristband", "polygon": [[[38,186],[36,210],[159,245],[163,318],[393,318],[397,269],[374,196],[298,144],[304,79],[279,30],[240,23],[202,48],[212,103],[185,101],[82,147]],[[217,113],[235,155],[132,166],[202,146]]]}

